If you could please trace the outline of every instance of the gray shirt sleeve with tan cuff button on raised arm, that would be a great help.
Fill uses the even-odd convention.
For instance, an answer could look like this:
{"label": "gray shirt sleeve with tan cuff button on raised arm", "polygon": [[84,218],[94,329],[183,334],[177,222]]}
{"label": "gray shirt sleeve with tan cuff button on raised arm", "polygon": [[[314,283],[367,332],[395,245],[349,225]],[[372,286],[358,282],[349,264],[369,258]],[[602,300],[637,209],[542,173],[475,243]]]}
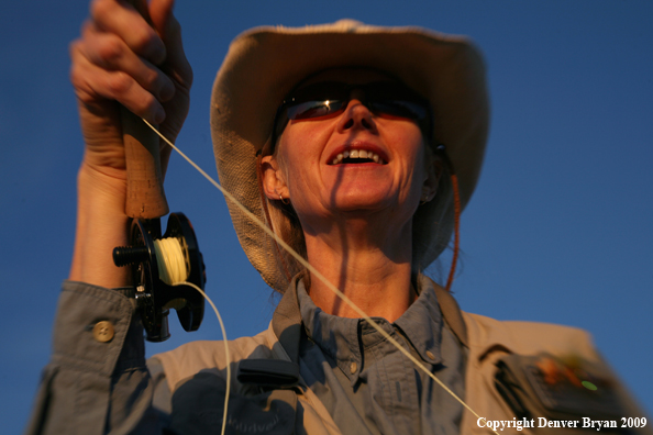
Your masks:
{"label": "gray shirt sleeve with tan cuff button on raised arm", "polygon": [[161,370],[155,380],[147,370],[130,291],[64,282],[53,355],[25,434],[162,433],[153,395],[167,383]]}

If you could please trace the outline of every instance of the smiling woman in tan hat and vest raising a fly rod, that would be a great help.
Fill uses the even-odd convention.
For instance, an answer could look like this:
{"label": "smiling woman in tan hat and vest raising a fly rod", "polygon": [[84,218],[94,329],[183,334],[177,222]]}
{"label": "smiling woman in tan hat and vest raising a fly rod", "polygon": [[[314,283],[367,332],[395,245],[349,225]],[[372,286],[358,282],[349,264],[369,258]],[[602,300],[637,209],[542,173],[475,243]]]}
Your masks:
{"label": "smiling woman in tan hat and vest raising a fly rod", "polygon": [[[71,47],[87,148],[70,281],[31,432],[215,432],[229,364],[233,433],[487,433],[232,204],[250,259],[284,293],[270,328],[231,343],[229,361],[220,344],[191,343],[145,366],[128,278],[109,254],[129,224],[117,101],[174,140],[192,81],[171,2],[148,12],[154,29],[98,0]],[[474,190],[487,113],[483,63],[466,41],[344,21],[239,37],[215,82],[212,132],[229,191],[478,415],[511,421],[495,362],[569,350],[600,360],[582,332],[462,313],[420,275],[451,238],[452,171],[463,207]],[[519,367],[503,364],[506,376]],[[533,414],[532,394],[522,399]]]}

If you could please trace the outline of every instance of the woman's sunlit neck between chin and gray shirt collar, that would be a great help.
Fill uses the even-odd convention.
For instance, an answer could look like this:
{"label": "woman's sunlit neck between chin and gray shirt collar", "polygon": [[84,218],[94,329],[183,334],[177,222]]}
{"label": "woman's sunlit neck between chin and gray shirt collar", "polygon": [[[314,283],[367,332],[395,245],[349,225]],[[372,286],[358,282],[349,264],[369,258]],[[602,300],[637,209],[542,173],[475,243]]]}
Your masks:
{"label": "woman's sunlit neck between chin and gray shirt collar", "polygon": [[[411,287],[412,227],[409,223],[399,232],[389,232],[387,226],[351,219],[328,232],[305,236],[311,265],[367,315],[395,322],[416,299]],[[329,314],[361,317],[320,279],[311,279],[309,293]]]}

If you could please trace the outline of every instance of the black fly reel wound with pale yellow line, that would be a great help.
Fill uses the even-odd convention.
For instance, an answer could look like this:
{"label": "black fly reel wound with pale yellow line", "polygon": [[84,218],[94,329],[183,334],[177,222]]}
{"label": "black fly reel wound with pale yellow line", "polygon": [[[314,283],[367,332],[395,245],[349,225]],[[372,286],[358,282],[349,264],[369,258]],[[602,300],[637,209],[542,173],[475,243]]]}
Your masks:
{"label": "black fly reel wound with pale yellow line", "polygon": [[[202,254],[199,250],[195,231],[190,221],[182,213],[170,213],[166,233],[161,235],[159,219],[134,219],[132,222],[131,246],[113,249],[115,266],[132,266],[133,285],[136,289],[135,299],[146,339],[163,342],[170,337],[168,330],[168,314],[170,309],[177,311],[177,316],[185,331],[197,331],[204,315],[204,299],[190,286],[164,282],[161,278],[161,267],[165,261],[157,258],[155,241],[171,239],[179,243],[182,259],[186,265],[187,278],[203,290],[207,280]],[[159,247],[161,250],[161,247]],[[169,275],[169,274],[168,274]]]}

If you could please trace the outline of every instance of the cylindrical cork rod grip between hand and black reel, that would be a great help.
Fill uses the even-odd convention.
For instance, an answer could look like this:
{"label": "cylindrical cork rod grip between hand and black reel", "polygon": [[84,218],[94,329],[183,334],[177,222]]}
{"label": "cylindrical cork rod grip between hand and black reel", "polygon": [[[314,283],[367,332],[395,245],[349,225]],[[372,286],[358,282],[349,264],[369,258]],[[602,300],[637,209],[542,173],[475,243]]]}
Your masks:
{"label": "cylindrical cork rod grip between hand and black reel", "polygon": [[163,188],[159,138],[125,108],[121,108],[121,121],[128,169],[125,214],[136,219],[166,215],[169,209]]}

